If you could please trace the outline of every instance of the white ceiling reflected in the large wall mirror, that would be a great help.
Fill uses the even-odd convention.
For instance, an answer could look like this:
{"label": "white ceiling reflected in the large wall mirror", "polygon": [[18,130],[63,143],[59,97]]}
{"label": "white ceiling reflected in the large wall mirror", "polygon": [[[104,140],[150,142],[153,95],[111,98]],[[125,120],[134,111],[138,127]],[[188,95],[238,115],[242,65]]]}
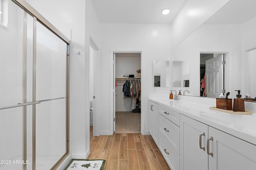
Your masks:
{"label": "white ceiling reflected in the large wall mirror", "polygon": [[256,0],[230,0],[206,24],[242,24],[256,16]]}

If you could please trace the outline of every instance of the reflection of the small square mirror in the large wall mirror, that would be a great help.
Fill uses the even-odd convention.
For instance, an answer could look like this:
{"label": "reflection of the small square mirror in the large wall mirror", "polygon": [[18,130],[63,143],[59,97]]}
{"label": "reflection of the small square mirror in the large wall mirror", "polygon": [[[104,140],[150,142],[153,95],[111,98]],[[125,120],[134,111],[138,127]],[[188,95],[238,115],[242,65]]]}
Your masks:
{"label": "reflection of the small square mirror in the large wall mirror", "polygon": [[189,87],[189,61],[172,61],[172,86]]}

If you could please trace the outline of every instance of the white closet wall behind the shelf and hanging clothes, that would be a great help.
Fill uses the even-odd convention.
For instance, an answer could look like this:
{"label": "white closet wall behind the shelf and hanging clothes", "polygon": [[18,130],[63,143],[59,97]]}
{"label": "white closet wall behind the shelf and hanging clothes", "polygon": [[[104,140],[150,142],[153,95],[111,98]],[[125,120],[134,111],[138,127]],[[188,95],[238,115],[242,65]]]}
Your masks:
{"label": "white closet wall behind the shelf and hanging clothes", "polygon": [[[140,53],[116,53],[116,78],[124,78],[124,75],[134,74],[140,69]],[[123,98],[123,84],[126,80],[116,80],[116,111],[132,111],[131,98]]]}

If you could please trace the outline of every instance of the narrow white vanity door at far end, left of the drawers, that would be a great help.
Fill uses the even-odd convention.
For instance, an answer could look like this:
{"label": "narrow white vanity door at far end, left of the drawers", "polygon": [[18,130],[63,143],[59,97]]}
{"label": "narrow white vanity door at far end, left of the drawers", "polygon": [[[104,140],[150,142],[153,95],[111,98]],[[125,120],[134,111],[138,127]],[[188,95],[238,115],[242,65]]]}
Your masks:
{"label": "narrow white vanity door at far end, left of the drawers", "polygon": [[158,104],[152,101],[148,101],[149,115],[148,115],[148,129],[150,135],[153,137],[156,145],[158,146]]}

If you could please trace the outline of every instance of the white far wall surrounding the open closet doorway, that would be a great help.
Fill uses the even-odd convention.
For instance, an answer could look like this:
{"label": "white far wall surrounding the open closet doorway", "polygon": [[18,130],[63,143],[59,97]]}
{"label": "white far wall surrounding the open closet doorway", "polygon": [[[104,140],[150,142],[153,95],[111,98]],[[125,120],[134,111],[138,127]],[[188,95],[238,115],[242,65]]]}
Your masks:
{"label": "white far wall surrounding the open closet doorway", "polygon": [[[112,51],[142,51],[142,133],[148,133],[148,94],[152,86],[152,61],[170,59],[169,24],[101,24],[100,54],[100,133],[113,133]],[[112,102],[112,103],[111,103]]]}

